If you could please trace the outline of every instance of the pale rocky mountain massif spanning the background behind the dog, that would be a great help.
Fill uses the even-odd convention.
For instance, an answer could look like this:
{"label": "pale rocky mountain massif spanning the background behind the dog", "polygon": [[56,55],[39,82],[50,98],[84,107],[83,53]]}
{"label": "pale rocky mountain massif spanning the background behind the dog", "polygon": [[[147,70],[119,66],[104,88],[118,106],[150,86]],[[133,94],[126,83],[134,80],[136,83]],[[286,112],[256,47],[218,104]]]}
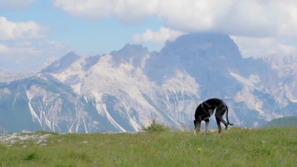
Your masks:
{"label": "pale rocky mountain massif spanning the background behind the dog", "polygon": [[160,52],[131,44],[87,58],[70,52],[0,84],[0,132],[137,131],[153,118],[190,129],[196,106],[213,97],[229,106],[231,123],[265,125],[297,115],[296,60],[244,59],[229,36],[212,33],[180,36]]}

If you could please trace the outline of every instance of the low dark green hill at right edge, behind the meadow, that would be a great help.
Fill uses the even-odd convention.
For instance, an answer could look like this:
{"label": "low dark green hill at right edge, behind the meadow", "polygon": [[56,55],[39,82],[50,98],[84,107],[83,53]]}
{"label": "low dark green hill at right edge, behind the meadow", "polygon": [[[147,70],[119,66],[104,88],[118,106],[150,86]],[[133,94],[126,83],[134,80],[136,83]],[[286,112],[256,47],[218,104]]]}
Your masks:
{"label": "low dark green hill at right edge, behind the meadow", "polygon": [[277,118],[268,122],[265,127],[297,127],[297,117]]}

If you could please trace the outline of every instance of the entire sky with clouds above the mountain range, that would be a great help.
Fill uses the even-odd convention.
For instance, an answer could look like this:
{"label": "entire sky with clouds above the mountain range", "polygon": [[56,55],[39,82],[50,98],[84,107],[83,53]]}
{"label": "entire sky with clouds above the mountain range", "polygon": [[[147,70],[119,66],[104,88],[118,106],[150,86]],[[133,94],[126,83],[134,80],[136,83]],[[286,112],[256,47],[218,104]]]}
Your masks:
{"label": "entire sky with clouds above the mountain range", "polygon": [[69,51],[159,51],[190,32],[228,34],[243,57],[297,55],[296,0],[0,0],[0,70],[36,71]]}

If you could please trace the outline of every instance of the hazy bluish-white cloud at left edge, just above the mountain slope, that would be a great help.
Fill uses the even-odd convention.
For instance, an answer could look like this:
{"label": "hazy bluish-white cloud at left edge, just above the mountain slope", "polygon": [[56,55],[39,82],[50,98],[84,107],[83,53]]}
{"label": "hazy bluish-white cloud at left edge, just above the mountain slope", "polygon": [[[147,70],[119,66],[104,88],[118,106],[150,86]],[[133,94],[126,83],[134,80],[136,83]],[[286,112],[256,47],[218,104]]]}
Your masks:
{"label": "hazy bluish-white cloud at left edge, just above the mountain slope", "polygon": [[[61,42],[12,42],[0,43],[0,66],[12,72],[35,71],[50,57],[63,56],[69,52]],[[30,64],[30,65],[28,65]]]}

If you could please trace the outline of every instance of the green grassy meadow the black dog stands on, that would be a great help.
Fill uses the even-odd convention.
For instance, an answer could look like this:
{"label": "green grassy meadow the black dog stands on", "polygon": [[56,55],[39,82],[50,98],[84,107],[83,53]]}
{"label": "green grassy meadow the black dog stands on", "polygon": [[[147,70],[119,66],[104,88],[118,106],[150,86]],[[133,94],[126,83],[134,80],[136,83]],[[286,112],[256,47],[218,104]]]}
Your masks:
{"label": "green grassy meadow the black dog stands on", "polygon": [[0,166],[297,166],[297,128],[232,128],[207,135],[173,131],[54,134],[45,144],[0,144]]}

